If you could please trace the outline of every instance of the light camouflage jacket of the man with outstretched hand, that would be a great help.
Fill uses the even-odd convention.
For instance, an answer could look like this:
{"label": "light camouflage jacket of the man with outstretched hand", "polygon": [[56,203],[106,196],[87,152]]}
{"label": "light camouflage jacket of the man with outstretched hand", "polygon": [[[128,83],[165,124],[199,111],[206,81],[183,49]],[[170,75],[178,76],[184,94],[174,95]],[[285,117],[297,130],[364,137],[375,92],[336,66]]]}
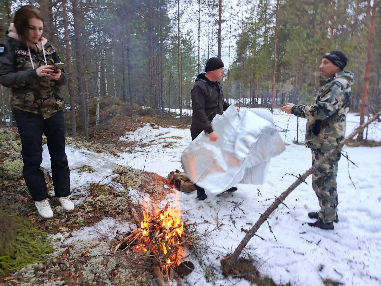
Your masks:
{"label": "light camouflage jacket of the man with outstretched hand", "polygon": [[306,147],[328,150],[344,139],[353,83],[352,72],[338,72],[319,89],[315,104],[293,106],[292,114],[308,119]]}

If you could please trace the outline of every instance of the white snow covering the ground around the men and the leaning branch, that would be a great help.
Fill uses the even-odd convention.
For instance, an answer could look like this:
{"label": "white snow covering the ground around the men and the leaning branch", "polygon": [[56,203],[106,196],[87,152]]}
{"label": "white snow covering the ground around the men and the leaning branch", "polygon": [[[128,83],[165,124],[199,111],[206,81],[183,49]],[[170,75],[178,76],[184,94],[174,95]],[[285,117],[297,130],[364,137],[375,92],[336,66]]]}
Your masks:
{"label": "white snow covering the ground around the men and the leaning branch", "polygon": [[[281,135],[289,145],[285,152],[272,159],[264,185],[239,185],[235,193],[209,195],[205,201],[198,201],[195,193],[179,193],[185,219],[199,222],[200,233],[216,228],[205,238],[210,245],[205,261],[208,260],[215,269],[217,285],[250,285],[245,280],[224,278],[219,270],[220,258],[234,251],[245,236],[242,229],[250,229],[272,203],[274,196],[279,196],[295,181],[295,177],[286,173],[301,174],[311,167],[310,150],[293,144],[296,139],[296,117],[277,110],[274,121],[280,130],[288,129]],[[358,122],[358,116],[349,114],[347,134],[357,127]],[[299,142],[304,140],[305,124],[305,119],[299,119]],[[380,141],[380,127],[380,124],[371,125],[368,138]],[[80,188],[86,180],[99,181],[111,174],[109,163],[112,162],[166,177],[174,169],[181,169],[181,153],[191,142],[191,134],[189,130],[176,127],[152,129],[147,124],[134,134],[126,133],[121,140],[135,140],[135,152],[130,149],[119,157],[113,157],[67,148],[69,162],[72,162],[69,165],[74,166],[70,171],[72,187]],[[325,231],[307,225],[307,222],[314,221],[307,217],[307,212],[319,209],[309,177],[307,185],[298,186],[287,197],[287,207],[282,205],[269,218],[274,235],[264,224],[257,232],[264,240],[254,237],[247,246],[262,275],[269,275],[276,283],[290,281],[292,285],[323,285],[326,278],[344,285],[381,285],[381,147],[345,147],[343,151],[348,153],[356,166],[344,157],[339,161],[340,221],[335,224],[335,230]],[[46,150],[43,157],[44,167],[48,168]],[[93,166],[95,172],[78,173],[82,163]],[[167,199],[173,201],[173,194],[168,195]],[[106,218],[97,229],[108,230],[113,223]],[[91,236],[90,229],[82,230],[82,233]],[[94,238],[97,238],[96,234]],[[191,285],[211,285],[205,281],[203,270],[198,264],[195,265],[195,271],[184,279]]]}

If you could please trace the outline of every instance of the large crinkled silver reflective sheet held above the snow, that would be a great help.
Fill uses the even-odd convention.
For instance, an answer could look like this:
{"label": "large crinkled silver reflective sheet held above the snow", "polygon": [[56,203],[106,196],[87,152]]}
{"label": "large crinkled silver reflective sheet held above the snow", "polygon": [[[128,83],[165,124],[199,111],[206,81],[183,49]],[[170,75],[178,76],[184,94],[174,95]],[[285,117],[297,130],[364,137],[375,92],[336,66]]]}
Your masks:
{"label": "large crinkled silver reflective sheet held above the snow", "polygon": [[263,184],[270,159],[285,149],[270,111],[231,105],[212,121],[216,142],[202,132],[181,156],[186,175],[196,185],[219,194],[238,183]]}

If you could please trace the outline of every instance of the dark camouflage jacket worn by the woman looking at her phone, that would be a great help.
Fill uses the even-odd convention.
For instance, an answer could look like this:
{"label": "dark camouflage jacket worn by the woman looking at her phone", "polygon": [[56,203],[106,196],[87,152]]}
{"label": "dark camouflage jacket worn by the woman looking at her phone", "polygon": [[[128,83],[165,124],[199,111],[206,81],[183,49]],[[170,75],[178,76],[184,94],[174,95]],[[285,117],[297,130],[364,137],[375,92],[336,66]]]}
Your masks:
{"label": "dark camouflage jacket worn by the woman looking at her phone", "polygon": [[[43,46],[48,65],[61,63],[49,42],[45,40]],[[3,53],[0,53],[0,84],[12,89],[12,108],[41,114],[45,119],[61,110],[64,101],[60,86],[67,83],[66,73],[61,69],[61,77],[58,80],[38,77],[36,69],[45,65],[42,50],[30,48],[33,69],[28,48],[22,42],[10,38],[2,47],[4,49]]]}

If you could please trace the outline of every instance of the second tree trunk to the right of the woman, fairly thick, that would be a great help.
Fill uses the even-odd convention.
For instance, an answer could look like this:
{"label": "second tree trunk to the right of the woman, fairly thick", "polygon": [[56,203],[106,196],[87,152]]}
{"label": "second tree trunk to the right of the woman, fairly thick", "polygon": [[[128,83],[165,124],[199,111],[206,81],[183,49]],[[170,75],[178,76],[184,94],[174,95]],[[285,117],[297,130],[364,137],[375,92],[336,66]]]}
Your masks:
{"label": "second tree trunk to the right of the woman, fairly thick", "polygon": [[77,83],[80,103],[81,126],[85,132],[85,137],[89,137],[89,119],[88,119],[88,94],[85,92],[85,66],[83,63],[83,52],[85,45],[83,43],[85,33],[83,32],[82,16],[78,9],[78,0],[71,0],[73,6],[74,34],[75,34],[75,54],[77,62]]}

